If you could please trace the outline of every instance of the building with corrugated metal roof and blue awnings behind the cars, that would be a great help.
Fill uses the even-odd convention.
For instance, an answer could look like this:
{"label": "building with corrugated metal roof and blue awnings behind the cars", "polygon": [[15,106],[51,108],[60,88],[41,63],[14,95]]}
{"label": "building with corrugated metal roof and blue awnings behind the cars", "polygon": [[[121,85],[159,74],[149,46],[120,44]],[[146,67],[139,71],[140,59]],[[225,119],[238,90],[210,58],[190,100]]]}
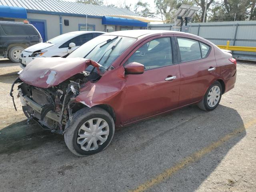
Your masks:
{"label": "building with corrugated metal roof and blue awnings behind the cars", "polygon": [[112,32],[144,29],[146,22],[121,17],[138,16],[123,8],[82,4],[63,0],[0,0],[0,20],[28,20],[44,41],[78,30]]}

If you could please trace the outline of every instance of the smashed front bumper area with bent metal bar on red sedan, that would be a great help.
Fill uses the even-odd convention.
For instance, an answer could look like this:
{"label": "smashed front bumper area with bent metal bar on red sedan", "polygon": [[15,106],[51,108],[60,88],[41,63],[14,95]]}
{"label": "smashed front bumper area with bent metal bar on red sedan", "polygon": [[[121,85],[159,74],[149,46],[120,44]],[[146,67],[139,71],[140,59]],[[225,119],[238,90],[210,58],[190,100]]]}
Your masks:
{"label": "smashed front bumper area with bent metal bar on red sedan", "polygon": [[[48,93],[46,92],[47,89],[43,90],[41,88],[37,88],[27,84],[25,84],[24,86],[24,82],[17,78],[12,84],[10,92],[10,96],[12,96],[15,109],[16,105],[14,103],[14,97],[12,92],[14,84],[16,83],[21,83],[18,86],[18,98],[20,98],[22,109],[25,115],[28,117],[28,121],[30,119],[34,119],[43,128],[46,127],[47,129],[52,130],[52,132],[63,134],[64,130],[67,130],[72,122],[73,116],[70,105],[75,102],[74,98],[80,93],[80,85],[76,82],[70,81],[66,90],[61,91],[60,93],[58,92],[60,91],[58,89],[57,92],[59,93],[59,95],[56,93],[56,95],[50,96],[50,94],[48,95]],[[26,93],[26,89],[28,86],[30,87],[30,92],[32,94]],[[51,90],[48,91],[51,92]],[[45,102],[47,100],[45,97],[52,97],[53,102]],[[49,98],[48,100],[50,101]],[[65,128],[63,129],[62,126],[65,126]]]}

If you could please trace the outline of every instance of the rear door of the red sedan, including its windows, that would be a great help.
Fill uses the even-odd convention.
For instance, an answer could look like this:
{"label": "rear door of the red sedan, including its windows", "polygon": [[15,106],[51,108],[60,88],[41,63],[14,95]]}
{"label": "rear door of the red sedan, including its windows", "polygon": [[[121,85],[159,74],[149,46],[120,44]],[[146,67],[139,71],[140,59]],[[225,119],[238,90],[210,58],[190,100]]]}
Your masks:
{"label": "rear door of the red sedan, including its windows", "polygon": [[184,106],[202,99],[216,76],[216,60],[213,47],[195,38],[177,36],[180,54],[180,99]]}

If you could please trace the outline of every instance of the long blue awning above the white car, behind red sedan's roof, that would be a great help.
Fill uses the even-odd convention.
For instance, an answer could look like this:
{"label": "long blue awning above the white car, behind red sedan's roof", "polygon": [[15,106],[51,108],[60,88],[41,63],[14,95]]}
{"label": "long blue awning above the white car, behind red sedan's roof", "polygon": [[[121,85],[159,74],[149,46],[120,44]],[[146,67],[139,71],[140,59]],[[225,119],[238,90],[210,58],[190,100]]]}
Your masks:
{"label": "long blue awning above the white car, behind red sedan's roof", "polygon": [[120,18],[120,17],[109,17],[109,16],[102,17],[102,24],[103,25],[136,26],[136,27],[148,26],[148,23],[142,22],[139,20]]}

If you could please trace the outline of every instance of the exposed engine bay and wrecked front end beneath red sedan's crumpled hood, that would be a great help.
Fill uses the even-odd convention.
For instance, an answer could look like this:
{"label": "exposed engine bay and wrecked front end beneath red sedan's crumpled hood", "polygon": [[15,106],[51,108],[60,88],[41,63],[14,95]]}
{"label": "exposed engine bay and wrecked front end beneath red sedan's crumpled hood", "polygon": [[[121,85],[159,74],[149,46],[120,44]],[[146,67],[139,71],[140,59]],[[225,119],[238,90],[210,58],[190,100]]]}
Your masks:
{"label": "exposed engine bay and wrecked front end beneath red sedan's crumpled hood", "polygon": [[[96,70],[82,71],[48,88],[30,85],[19,77],[12,85],[10,96],[13,98],[14,84],[20,83],[18,97],[28,122],[32,119],[36,120],[42,128],[63,134],[72,122],[72,114],[84,107],[75,100],[80,94],[80,89],[85,87],[88,81],[97,82],[100,77]],[[15,103],[14,107],[16,109]]]}

